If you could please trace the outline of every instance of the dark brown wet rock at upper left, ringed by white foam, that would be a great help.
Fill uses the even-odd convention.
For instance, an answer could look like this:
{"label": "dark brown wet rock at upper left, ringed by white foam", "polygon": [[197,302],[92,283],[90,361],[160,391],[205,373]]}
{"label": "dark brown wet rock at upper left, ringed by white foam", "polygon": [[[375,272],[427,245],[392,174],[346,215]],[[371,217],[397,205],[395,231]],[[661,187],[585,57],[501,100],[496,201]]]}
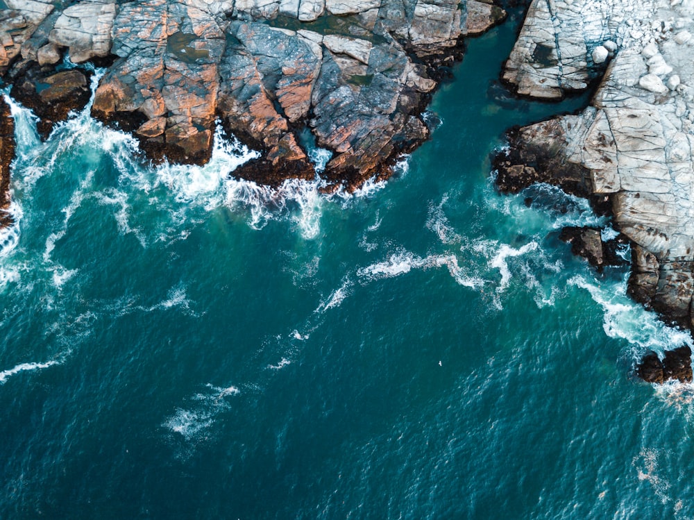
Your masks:
{"label": "dark brown wet rock at upper left, ringed by white foam", "polygon": [[61,72],[29,67],[15,80],[10,94],[40,118],[37,130],[48,137],[53,126],[69,112],[84,108],[90,99],[90,73],[78,69]]}

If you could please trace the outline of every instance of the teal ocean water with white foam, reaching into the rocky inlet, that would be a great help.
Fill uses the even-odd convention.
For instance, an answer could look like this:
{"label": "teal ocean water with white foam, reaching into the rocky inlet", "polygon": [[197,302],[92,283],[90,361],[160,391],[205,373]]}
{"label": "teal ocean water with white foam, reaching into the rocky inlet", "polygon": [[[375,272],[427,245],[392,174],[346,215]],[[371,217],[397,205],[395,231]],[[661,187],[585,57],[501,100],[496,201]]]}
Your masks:
{"label": "teal ocean water with white foam, reaching into the rocky inlet", "polygon": [[42,143],[13,103],[0,518],[694,517],[693,389],[631,375],[690,337],[558,240],[608,224],[584,201],[494,190],[505,128],[587,99],[504,94],[520,17],[356,194],[236,181],[221,139],[147,167],[88,109]]}

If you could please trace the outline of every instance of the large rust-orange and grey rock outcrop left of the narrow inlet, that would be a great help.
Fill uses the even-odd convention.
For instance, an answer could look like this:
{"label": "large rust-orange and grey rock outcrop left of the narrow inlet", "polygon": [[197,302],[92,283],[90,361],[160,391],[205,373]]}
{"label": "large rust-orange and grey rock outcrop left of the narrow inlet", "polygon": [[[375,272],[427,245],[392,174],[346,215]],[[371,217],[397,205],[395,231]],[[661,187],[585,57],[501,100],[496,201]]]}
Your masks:
{"label": "large rust-orange and grey rock outcrop left of the narrow inlet", "polygon": [[333,152],[323,176],[348,186],[387,175],[428,137],[420,116],[441,67],[463,37],[504,16],[477,0],[7,4],[0,72],[26,87],[38,113],[42,90],[28,84],[53,77],[62,58],[112,60],[92,115],[133,132],[150,158],[205,162],[219,119],[262,153],[237,174],[313,178],[298,139],[310,131]]}

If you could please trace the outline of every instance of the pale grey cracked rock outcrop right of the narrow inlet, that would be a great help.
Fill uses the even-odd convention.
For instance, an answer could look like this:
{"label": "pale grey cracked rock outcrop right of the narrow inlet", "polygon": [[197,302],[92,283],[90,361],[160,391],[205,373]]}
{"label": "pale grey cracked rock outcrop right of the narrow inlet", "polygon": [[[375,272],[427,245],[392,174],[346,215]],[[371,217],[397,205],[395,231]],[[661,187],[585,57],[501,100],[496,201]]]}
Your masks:
{"label": "pale grey cracked rock outcrop right of the narrow inlet", "polygon": [[[534,1],[505,69],[518,92],[561,96],[600,72],[591,62],[599,44],[614,48],[614,56],[591,106],[511,131],[511,150],[496,159],[500,187],[519,190],[541,181],[607,201],[616,228],[634,244],[631,294],[666,319],[691,326],[694,67],[687,35],[694,30],[694,2],[547,3],[550,15],[543,4]],[[576,12],[593,12],[596,6],[604,9],[604,19],[586,15],[579,38],[568,26]],[[563,49],[573,44],[583,49],[582,60],[572,58],[569,76],[566,60],[549,66],[532,52],[533,44],[555,39],[551,56],[567,56]]]}

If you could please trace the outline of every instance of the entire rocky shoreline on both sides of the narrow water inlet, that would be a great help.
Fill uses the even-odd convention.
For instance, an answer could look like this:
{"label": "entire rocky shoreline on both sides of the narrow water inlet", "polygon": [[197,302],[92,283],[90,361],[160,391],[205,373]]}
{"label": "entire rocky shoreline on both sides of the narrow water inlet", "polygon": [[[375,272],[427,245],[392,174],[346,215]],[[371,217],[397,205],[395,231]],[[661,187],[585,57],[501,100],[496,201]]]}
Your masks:
{"label": "entire rocky shoreline on both sides of the narrow water inlet", "polygon": [[[261,153],[235,176],[278,185],[316,176],[308,135],[332,152],[326,191],[387,178],[428,139],[421,115],[464,37],[505,16],[486,0],[5,3],[0,76],[44,137],[90,97],[91,73],[69,57],[106,67],[92,115],[150,160],[207,162],[220,121]],[[693,19],[694,0],[533,0],[502,81],[534,99],[595,94],[582,112],[512,128],[493,161],[502,192],[551,183],[611,215],[632,244],[629,293],[692,330]],[[0,108],[6,210],[14,148]],[[562,239],[598,269],[620,261],[600,230]]]}

